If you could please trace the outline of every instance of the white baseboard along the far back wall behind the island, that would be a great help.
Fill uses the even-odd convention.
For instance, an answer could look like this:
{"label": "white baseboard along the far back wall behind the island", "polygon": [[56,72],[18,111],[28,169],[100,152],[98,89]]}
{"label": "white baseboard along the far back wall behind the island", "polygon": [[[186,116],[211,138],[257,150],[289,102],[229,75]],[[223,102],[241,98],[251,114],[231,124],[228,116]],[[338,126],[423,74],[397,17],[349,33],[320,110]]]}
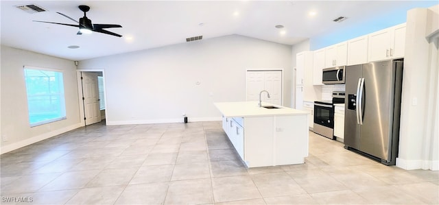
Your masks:
{"label": "white baseboard along the far back wall behind the island", "polygon": [[[221,121],[221,117],[195,117],[188,118],[190,122],[201,122],[201,121]],[[141,124],[159,124],[159,123],[183,123],[182,118],[174,119],[149,119],[149,120],[131,120],[131,121],[106,121],[106,125],[141,125]]]}

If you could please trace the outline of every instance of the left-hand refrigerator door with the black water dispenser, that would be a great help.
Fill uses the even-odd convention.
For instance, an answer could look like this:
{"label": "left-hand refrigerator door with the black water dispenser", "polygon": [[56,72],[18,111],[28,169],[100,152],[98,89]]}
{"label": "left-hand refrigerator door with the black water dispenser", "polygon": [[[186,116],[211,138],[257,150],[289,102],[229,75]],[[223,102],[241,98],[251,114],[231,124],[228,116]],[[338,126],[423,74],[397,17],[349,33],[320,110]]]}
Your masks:
{"label": "left-hand refrigerator door with the black water dispenser", "polygon": [[[359,149],[360,125],[357,123],[357,96],[358,80],[362,77],[361,64],[345,68],[346,98],[344,109],[344,144]],[[351,96],[351,97],[349,97]],[[349,106],[351,105],[351,106]]]}

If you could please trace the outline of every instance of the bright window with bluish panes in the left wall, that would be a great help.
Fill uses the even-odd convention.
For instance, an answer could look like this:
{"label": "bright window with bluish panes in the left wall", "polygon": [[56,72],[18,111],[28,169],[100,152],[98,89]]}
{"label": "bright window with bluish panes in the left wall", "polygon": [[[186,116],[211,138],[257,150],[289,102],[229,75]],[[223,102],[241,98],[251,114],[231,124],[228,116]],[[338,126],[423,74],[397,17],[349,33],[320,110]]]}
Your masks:
{"label": "bright window with bluish panes in the left wall", "polygon": [[66,119],[62,73],[30,67],[24,70],[30,126]]}

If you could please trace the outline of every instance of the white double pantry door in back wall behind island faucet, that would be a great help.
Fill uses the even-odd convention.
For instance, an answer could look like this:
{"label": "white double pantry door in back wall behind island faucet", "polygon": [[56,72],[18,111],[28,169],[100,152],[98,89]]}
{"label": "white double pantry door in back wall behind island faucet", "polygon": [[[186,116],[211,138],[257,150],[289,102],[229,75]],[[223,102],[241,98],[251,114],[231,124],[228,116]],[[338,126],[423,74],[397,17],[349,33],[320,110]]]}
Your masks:
{"label": "white double pantry door in back wall behind island faucet", "polygon": [[247,71],[246,73],[246,100],[259,101],[259,93],[262,93],[262,101],[282,105],[282,71]]}

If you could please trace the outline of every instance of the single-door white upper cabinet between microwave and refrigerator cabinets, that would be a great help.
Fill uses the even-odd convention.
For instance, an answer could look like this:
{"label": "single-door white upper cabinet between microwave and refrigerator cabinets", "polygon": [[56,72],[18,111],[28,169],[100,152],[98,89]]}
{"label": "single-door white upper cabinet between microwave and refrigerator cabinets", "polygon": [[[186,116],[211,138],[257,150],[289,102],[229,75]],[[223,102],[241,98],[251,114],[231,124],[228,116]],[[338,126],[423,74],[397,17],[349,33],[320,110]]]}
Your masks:
{"label": "single-door white upper cabinet between microwave and refrigerator cabinets", "polygon": [[368,36],[348,40],[348,65],[368,62]]}

